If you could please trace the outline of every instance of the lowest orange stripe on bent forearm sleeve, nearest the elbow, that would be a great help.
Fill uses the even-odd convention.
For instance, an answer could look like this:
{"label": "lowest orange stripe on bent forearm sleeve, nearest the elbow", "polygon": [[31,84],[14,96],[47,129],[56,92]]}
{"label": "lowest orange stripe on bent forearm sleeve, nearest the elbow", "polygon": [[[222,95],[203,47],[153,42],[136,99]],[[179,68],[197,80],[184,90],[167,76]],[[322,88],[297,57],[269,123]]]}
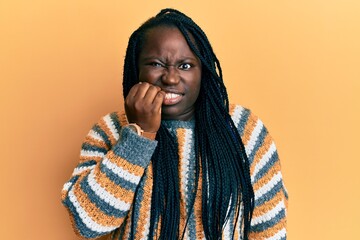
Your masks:
{"label": "lowest orange stripe on bent forearm sleeve, nearest the elbow", "polygon": [[81,177],[74,185],[74,194],[80,206],[91,217],[91,219],[102,226],[120,226],[123,218],[115,218],[104,214],[93,202],[91,202],[86,193],[81,189],[80,182],[84,178]]}

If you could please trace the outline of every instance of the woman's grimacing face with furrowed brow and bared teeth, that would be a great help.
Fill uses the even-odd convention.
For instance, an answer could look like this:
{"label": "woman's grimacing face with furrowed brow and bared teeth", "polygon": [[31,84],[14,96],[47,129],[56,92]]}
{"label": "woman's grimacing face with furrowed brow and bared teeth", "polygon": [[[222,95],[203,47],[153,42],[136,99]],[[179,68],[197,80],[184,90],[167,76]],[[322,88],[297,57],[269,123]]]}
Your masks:
{"label": "woman's grimacing face with furrowed brow and bared teeth", "polygon": [[191,119],[200,91],[201,62],[181,32],[163,26],[148,30],[138,64],[139,81],[166,93],[162,119]]}

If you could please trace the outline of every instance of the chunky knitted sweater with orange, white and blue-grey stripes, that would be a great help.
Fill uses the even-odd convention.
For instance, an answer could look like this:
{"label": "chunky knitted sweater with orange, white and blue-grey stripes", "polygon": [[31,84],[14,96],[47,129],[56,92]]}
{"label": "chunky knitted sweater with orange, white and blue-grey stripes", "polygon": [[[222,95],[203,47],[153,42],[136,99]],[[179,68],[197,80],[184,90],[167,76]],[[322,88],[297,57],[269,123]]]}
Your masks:
{"label": "chunky knitted sweater with orange, white and blue-grey stripes", "polygon": [[[230,113],[245,145],[255,192],[250,239],[286,239],[287,192],[275,144],[261,120],[248,109],[232,105]],[[108,114],[95,124],[82,144],[79,164],[63,187],[62,203],[82,237],[96,238],[111,232],[112,239],[129,239],[135,208],[135,239],[147,239],[153,185],[151,156],[157,141],[122,127],[126,124],[123,112]],[[189,193],[195,191],[195,121],[163,124],[178,142],[180,231],[189,219],[184,239],[204,239],[201,182],[195,205],[189,206]],[[242,239],[241,229],[241,214],[238,219],[233,214],[223,239]]]}

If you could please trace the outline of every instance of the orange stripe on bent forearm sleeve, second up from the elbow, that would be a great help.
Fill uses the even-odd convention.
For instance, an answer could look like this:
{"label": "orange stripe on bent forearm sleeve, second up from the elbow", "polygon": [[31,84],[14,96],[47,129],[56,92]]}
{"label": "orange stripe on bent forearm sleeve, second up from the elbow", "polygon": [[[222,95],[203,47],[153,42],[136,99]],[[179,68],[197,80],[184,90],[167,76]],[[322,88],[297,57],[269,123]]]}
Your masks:
{"label": "orange stripe on bent forearm sleeve, second up from the elbow", "polygon": [[121,199],[126,203],[132,203],[134,199],[134,192],[120,187],[111,181],[105,173],[100,171],[99,165],[94,170],[95,180],[103,187],[107,192],[114,195],[116,198]]}

